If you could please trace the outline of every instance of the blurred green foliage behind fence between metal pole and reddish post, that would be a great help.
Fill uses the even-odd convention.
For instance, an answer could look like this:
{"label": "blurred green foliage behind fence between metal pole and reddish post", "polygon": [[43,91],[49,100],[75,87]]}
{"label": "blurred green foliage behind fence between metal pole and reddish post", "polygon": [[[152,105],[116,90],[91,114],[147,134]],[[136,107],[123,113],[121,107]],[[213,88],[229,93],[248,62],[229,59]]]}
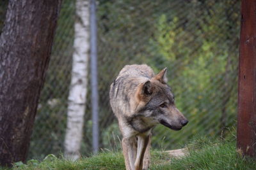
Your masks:
{"label": "blurred green foliage behind fence between metal pole and reddish post", "polygon": [[[168,67],[177,107],[189,119],[179,132],[158,125],[153,146],[177,148],[195,134],[226,136],[236,124],[239,1],[100,2],[99,80],[101,96],[106,96],[100,102],[101,109],[106,107],[105,119],[106,85],[125,64],[147,63],[156,72]],[[106,123],[100,125],[105,132]]]}

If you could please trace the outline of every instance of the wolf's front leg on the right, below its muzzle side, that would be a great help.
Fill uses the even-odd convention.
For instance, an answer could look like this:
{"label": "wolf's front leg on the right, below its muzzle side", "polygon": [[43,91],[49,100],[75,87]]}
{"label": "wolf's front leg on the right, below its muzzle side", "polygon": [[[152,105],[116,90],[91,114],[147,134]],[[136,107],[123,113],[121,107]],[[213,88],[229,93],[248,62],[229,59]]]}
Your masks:
{"label": "wolf's front leg on the right, below its muzzle side", "polygon": [[143,167],[144,154],[148,145],[149,136],[138,136],[138,150],[135,161],[135,169],[141,170]]}

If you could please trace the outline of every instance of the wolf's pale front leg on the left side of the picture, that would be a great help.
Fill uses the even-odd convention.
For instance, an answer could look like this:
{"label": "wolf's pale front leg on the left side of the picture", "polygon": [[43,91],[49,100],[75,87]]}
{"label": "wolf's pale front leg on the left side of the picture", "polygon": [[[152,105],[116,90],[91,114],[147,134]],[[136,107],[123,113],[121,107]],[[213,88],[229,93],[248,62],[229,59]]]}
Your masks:
{"label": "wolf's pale front leg on the left side of the picture", "polygon": [[137,154],[137,140],[135,136],[122,139],[122,148],[124,153],[125,169],[134,170],[134,163]]}

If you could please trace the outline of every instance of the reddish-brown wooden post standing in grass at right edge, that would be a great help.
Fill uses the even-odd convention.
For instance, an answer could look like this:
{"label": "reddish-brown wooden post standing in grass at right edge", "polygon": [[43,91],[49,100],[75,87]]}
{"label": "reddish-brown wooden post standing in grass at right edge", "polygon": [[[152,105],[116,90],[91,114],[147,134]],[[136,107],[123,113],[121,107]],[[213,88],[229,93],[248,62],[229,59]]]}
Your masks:
{"label": "reddish-brown wooden post standing in grass at right edge", "polygon": [[256,1],[241,2],[237,149],[256,157]]}

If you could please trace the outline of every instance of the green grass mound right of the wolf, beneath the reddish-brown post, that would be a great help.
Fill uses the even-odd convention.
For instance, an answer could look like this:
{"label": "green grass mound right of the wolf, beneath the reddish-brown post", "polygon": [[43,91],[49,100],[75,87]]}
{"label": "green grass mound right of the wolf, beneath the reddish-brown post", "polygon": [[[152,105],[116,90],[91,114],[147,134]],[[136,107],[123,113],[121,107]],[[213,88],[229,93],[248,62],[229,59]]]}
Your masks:
{"label": "green grass mound right of the wolf, beneath the reddish-brown post", "polygon": [[211,141],[200,138],[188,145],[189,155],[152,169],[256,169],[256,161],[236,152],[234,141]]}

